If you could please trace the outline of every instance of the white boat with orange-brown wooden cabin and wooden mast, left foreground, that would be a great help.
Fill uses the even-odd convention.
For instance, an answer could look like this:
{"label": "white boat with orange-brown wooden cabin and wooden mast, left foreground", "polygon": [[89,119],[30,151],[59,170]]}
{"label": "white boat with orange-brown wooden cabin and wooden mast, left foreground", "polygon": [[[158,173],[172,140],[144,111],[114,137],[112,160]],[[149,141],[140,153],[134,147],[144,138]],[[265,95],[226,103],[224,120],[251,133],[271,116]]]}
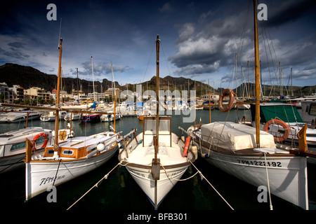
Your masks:
{"label": "white boat with orange-brown wooden cabin and wooden mast, left foreground", "polygon": [[[55,133],[59,133],[59,113],[57,112],[58,106],[60,106],[61,38],[59,50]],[[32,155],[32,144],[27,139],[26,200],[45,192],[52,186],[58,186],[103,165],[117,152],[121,141],[120,134],[120,132],[108,131],[88,137],[74,137],[65,141],[58,141],[58,138],[55,138],[53,146],[47,146],[44,153],[39,155]]]}

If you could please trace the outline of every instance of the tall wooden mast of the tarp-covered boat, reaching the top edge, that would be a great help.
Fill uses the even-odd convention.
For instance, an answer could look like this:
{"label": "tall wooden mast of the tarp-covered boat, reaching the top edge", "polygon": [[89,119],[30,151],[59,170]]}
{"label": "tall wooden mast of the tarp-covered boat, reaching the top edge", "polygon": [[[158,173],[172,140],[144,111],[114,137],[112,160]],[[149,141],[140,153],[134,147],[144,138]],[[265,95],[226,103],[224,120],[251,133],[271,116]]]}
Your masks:
{"label": "tall wooden mast of the tarp-covered boat, reaching the top edge", "polygon": [[256,98],[256,144],[260,148],[260,64],[258,43],[257,2],[254,0],[254,52],[255,52],[255,98]]}

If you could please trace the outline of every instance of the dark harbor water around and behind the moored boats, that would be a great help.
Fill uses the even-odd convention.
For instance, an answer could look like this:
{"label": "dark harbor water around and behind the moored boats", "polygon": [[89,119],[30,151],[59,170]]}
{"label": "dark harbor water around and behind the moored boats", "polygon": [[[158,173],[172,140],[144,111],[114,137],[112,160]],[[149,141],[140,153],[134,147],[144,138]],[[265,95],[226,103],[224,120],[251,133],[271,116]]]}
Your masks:
{"label": "dark harbor water around and behind the moored boats", "polygon": [[[180,134],[178,127],[187,130],[194,123],[184,123],[183,116],[172,116],[172,130],[176,134]],[[251,118],[251,112],[248,110],[231,110],[228,113],[222,113],[218,110],[211,111],[211,121],[233,121],[236,118]],[[209,111],[196,111],[196,123],[202,120],[202,123],[209,123]],[[54,122],[41,122],[40,120],[32,120],[28,123],[29,127],[44,127],[54,129]],[[60,121],[60,128],[65,128],[67,122]],[[72,127],[76,136],[88,136],[98,132],[109,130],[112,123],[79,123],[73,121]],[[117,132],[122,131],[123,134],[129,133],[132,129],[137,128],[137,132],[142,132],[143,122],[137,117],[123,117],[116,122]],[[0,132],[8,132],[17,130],[25,126],[24,123],[2,123],[0,124]],[[13,172],[1,174],[1,203],[0,211],[10,209],[24,209],[24,211],[65,211],[90,188],[92,188],[105,174],[108,174],[118,163],[118,152],[114,157],[105,163],[102,167],[92,172],[79,176],[77,179],[68,181],[56,187],[57,202],[48,202],[47,197],[50,192],[42,193],[27,202],[25,202],[25,169],[16,169]],[[269,202],[258,202],[258,188],[244,183],[225,172],[220,171],[216,167],[212,167],[203,158],[195,161],[195,166],[218,190],[218,193],[225,198],[230,206],[235,210],[269,210]],[[195,167],[190,166],[182,179],[186,179],[197,172]],[[308,197],[310,210],[316,210],[316,165],[308,163]],[[216,193],[213,188],[202,179],[199,174],[195,175],[187,181],[178,181],[176,186],[166,196],[159,211],[198,211],[198,210],[230,210],[228,204]],[[271,195],[271,202],[275,210],[300,210],[294,204],[279,199]],[[125,167],[118,166],[110,172],[107,179],[104,179],[98,188],[93,188],[79,202],[74,204],[71,211],[81,210],[124,210],[124,211],[152,211],[154,208],[147,199],[145,193],[133,180]]]}

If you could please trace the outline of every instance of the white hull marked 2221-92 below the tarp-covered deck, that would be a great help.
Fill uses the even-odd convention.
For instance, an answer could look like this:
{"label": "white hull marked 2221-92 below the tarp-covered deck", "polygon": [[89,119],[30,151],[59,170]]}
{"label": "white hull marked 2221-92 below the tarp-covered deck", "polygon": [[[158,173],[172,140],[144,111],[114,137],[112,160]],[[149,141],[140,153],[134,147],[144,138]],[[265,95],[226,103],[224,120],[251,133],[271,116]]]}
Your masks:
{"label": "white hull marked 2221-92 below the tarp-covered deck", "polygon": [[[198,142],[195,142],[199,146]],[[201,151],[200,151],[201,153]],[[307,162],[291,155],[237,155],[209,150],[202,154],[211,165],[253,186],[265,186],[272,195],[308,209]],[[266,162],[265,162],[266,161]],[[267,176],[268,170],[268,176]],[[302,187],[303,186],[303,187]]]}

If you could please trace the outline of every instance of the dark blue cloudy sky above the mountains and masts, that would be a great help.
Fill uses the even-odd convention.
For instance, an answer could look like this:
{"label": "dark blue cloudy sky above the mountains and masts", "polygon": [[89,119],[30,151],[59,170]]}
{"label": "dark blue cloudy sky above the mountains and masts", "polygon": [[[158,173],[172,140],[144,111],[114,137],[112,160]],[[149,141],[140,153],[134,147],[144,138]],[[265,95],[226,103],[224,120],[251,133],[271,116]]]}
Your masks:
{"label": "dark blue cloudy sky above the mountains and masts", "polygon": [[[55,3],[57,20],[47,19],[49,3]],[[279,85],[281,68],[282,84],[288,85],[292,68],[294,85],[316,85],[315,1],[258,3],[265,3],[268,17],[258,21],[263,83]],[[95,80],[112,79],[111,61],[121,85],[150,80],[159,34],[160,76],[232,87],[235,73],[238,85],[247,79],[248,61],[253,80],[253,18],[251,0],[11,0],[0,8],[0,65],[57,74],[61,20],[65,77],[76,78],[78,68],[79,78],[92,80],[93,56]]]}

